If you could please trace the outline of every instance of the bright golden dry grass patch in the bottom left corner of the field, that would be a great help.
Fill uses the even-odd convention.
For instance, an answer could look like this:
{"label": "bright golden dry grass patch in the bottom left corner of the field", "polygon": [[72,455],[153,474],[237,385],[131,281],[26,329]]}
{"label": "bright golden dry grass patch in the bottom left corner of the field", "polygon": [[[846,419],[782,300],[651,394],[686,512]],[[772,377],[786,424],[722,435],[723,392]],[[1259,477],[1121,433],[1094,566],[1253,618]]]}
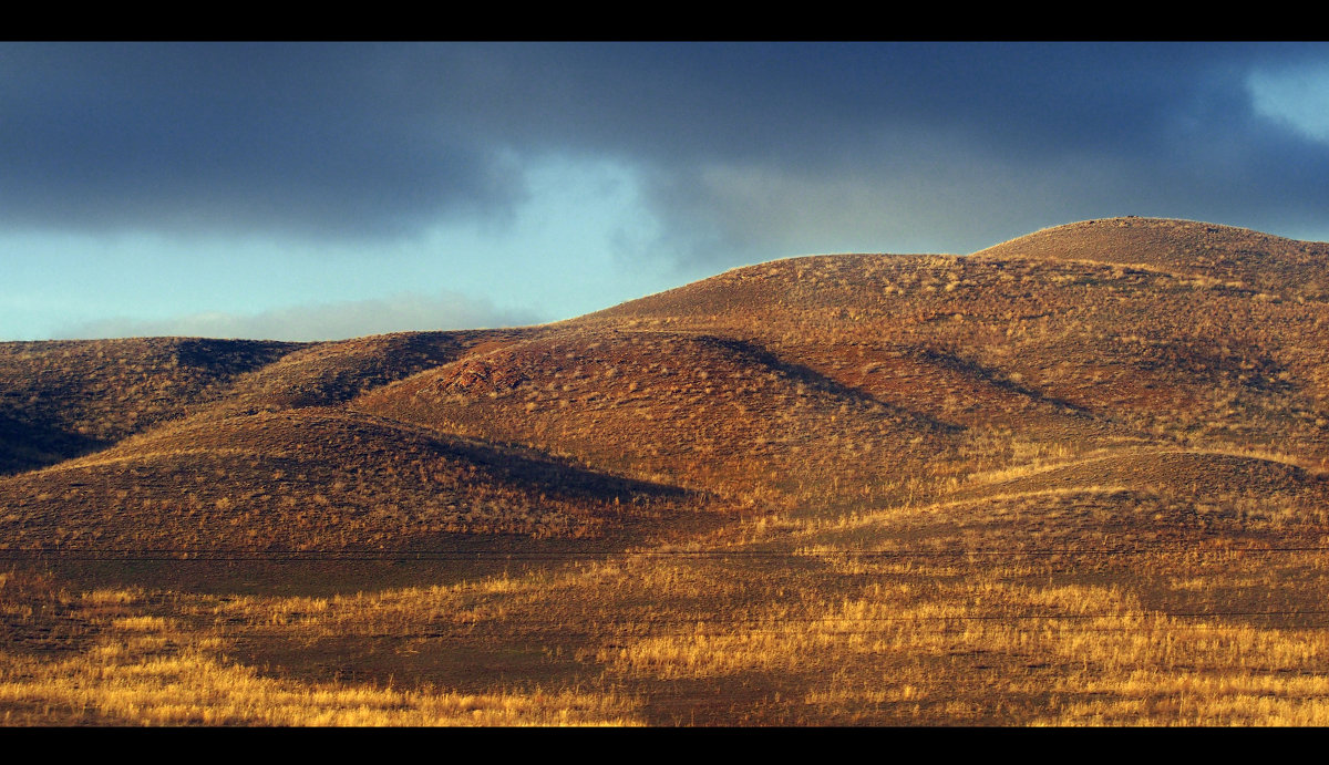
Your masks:
{"label": "bright golden dry grass patch in the bottom left corner of the field", "polygon": [[[118,595],[120,602],[133,602],[129,594]],[[262,677],[229,660],[219,638],[145,615],[109,620],[94,645],[68,659],[0,652],[0,705],[7,724],[47,717],[118,725],[635,722],[631,701],[613,693],[449,693]]]}

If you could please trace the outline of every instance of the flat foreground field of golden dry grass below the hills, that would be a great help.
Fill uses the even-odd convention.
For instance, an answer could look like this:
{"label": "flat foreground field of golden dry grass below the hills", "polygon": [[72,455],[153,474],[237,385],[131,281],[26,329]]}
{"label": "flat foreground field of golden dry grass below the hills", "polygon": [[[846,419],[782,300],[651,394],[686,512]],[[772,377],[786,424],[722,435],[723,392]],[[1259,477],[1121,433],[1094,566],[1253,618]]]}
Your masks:
{"label": "flat foreground field of golden dry grass below the hills", "polygon": [[[1073,546],[1080,519],[1154,511],[1136,502],[1034,491],[987,510],[1059,517],[1041,521],[1045,537],[956,523],[941,502],[299,596],[254,582],[77,592],[11,572],[0,703],[9,724],[1329,721],[1316,529]],[[966,525],[983,547],[918,542]],[[234,579],[260,567],[178,566]]]}

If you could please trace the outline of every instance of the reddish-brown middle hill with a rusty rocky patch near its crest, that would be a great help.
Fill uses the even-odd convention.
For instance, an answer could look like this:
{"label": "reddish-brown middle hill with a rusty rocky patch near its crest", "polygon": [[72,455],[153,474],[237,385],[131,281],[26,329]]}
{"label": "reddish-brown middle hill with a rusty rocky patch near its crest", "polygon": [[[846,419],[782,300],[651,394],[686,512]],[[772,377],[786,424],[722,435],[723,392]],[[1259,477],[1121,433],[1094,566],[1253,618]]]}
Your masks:
{"label": "reddish-brown middle hill with a rusty rocky patch near its crest", "polygon": [[465,356],[352,408],[750,499],[849,486],[867,495],[962,432],[751,340],[575,325]]}

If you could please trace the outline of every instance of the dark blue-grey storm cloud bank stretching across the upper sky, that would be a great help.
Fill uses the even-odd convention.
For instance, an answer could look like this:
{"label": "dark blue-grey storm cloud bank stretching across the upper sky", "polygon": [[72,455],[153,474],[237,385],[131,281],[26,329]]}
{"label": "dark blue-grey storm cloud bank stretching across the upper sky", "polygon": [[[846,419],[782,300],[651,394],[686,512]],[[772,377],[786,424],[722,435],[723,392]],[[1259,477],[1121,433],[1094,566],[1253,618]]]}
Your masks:
{"label": "dark blue-grey storm cloud bank stretching across the upper sky", "polygon": [[[1322,216],[1252,68],[1324,45],[0,46],[0,220],[384,235],[502,214],[548,153],[635,167],[715,259],[969,250],[1078,218]],[[839,236],[840,239],[828,240]],[[893,239],[894,238],[894,239]],[[722,252],[727,255],[722,255]]]}

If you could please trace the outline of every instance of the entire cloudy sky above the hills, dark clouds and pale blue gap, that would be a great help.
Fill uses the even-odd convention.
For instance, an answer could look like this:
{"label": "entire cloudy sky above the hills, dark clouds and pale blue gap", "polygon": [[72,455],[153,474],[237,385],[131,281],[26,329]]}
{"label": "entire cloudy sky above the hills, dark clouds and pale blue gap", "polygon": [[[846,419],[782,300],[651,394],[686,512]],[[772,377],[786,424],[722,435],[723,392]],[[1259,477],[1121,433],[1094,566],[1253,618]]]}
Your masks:
{"label": "entire cloudy sky above the hills, dark clouds and pale blue gap", "polygon": [[0,340],[530,324],[1112,215],[1329,239],[1329,45],[0,42]]}

